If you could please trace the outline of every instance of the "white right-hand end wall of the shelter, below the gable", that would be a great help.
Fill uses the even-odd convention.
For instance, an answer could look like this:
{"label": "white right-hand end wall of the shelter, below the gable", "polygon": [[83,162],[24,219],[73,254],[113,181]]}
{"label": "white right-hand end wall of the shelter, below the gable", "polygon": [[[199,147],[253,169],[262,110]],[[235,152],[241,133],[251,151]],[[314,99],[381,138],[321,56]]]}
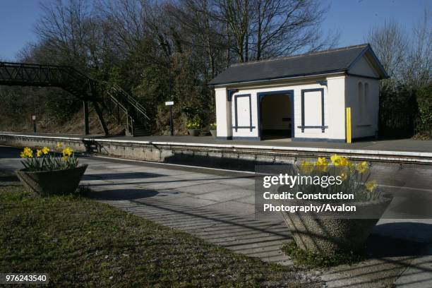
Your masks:
{"label": "white right-hand end wall of the shelter, below the gable", "polygon": [[[371,78],[348,76],[347,82],[347,107],[351,107],[352,138],[375,136],[376,131],[378,131],[379,81]],[[362,93],[365,93],[365,86],[368,85],[363,117],[360,115],[359,83],[363,86]]]}

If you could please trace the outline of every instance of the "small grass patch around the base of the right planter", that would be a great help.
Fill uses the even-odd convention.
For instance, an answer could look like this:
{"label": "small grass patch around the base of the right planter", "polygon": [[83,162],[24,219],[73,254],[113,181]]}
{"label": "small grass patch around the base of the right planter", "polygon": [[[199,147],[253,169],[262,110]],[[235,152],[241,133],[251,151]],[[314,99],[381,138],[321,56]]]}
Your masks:
{"label": "small grass patch around the base of the right planter", "polygon": [[358,253],[340,253],[333,256],[325,256],[299,248],[294,241],[286,243],[281,250],[291,258],[296,265],[306,268],[328,268],[343,264],[354,264],[364,259]]}

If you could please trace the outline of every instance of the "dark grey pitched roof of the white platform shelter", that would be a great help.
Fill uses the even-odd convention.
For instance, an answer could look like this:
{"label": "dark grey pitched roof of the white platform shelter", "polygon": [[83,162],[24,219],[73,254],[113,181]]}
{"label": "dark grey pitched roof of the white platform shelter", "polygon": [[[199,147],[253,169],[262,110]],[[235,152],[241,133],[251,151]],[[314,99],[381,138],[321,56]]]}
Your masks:
{"label": "dark grey pitched roof of the white platform shelter", "polygon": [[296,76],[347,71],[366,52],[371,54],[380,70],[381,78],[387,73],[369,44],[342,47],[264,61],[234,64],[213,78],[209,85],[223,85],[258,80],[272,80]]}

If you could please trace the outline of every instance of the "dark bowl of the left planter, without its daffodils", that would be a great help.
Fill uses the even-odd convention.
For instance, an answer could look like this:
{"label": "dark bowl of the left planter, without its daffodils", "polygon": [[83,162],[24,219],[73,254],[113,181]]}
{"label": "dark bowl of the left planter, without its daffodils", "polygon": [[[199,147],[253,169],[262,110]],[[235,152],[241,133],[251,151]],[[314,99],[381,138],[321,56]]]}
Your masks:
{"label": "dark bowl of the left planter, without its daffodils", "polygon": [[40,196],[66,195],[76,191],[88,165],[80,165],[73,169],[42,172],[27,172],[25,169],[16,171],[18,179],[30,193]]}

